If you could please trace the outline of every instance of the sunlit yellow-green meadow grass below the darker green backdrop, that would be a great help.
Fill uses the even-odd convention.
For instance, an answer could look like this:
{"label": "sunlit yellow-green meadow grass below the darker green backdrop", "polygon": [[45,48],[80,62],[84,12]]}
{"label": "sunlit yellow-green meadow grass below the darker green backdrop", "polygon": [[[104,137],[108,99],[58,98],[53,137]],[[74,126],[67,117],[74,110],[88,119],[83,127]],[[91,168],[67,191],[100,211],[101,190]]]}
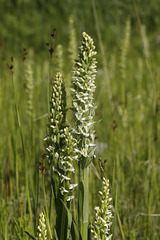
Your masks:
{"label": "sunlit yellow-green meadow grass below the darker green backdrop", "polygon": [[[112,239],[159,240],[159,43],[150,41],[141,21],[137,21],[135,36],[128,19],[118,46],[110,49],[103,42],[94,5],[93,13],[97,35],[91,37],[96,39],[98,62],[94,94],[97,149],[89,167],[89,223],[94,221],[94,206],[100,204],[98,192],[105,176],[112,197]],[[42,211],[47,239],[56,239],[50,169],[41,168],[40,162],[57,71],[64,77],[67,123],[72,125],[70,86],[81,41],[76,39],[72,20],[69,26],[68,49],[56,37],[46,36],[56,45],[52,58],[51,51],[48,58],[39,59],[33,49],[23,49],[22,57],[11,53],[11,58],[0,63],[0,239],[29,239],[25,231],[36,237]],[[75,221],[77,192],[71,204]]]}

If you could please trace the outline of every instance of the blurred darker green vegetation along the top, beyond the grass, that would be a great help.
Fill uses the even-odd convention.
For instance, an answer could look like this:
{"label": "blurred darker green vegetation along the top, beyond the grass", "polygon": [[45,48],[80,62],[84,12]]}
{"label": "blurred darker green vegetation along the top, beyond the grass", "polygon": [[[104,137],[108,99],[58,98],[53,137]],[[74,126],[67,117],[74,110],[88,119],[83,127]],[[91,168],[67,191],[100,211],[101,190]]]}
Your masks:
{"label": "blurred darker green vegetation along the top, beyond the grass", "polygon": [[[107,48],[115,51],[126,19],[132,25],[132,44],[138,38],[137,17],[134,1],[95,1],[102,39]],[[160,31],[159,0],[137,0],[139,17],[146,25],[152,47],[157,47]],[[98,40],[93,16],[92,1],[89,0],[1,0],[0,42],[5,45],[4,55],[22,54],[22,48],[33,48],[36,56],[45,54],[45,42],[53,28],[57,29],[57,42],[67,47],[69,38],[68,18],[73,15],[77,37],[82,31]],[[133,40],[134,39],[134,40]],[[138,47],[138,46],[137,46]]]}

